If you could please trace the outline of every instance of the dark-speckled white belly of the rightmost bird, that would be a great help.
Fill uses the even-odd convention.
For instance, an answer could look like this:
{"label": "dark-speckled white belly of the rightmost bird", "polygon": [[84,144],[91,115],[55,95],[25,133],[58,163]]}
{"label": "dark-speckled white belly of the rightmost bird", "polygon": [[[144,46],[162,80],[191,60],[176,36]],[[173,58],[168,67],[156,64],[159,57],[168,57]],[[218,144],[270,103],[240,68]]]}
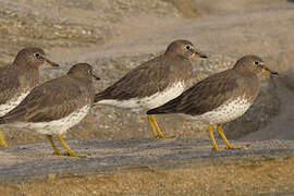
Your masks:
{"label": "dark-speckled white belly of the rightmost bird", "polygon": [[203,113],[201,115],[184,115],[186,119],[201,121],[207,124],[222,124],[242,117],[248,110],[250,105],[252,103],[248,100],[240,97],[234,100],[229,100],[213,111]]}

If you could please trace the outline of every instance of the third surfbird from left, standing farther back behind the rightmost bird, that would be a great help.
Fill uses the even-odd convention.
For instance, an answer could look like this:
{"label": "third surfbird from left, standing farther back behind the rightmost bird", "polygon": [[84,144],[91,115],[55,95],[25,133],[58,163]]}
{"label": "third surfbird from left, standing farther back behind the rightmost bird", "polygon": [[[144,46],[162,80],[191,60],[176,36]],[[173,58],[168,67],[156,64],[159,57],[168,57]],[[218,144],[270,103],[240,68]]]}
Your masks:
{"label": "third surfbird from left, standing farther back behind the rightmost bird", "polygon": [[[192,77],[192,58],[207,58],[188,40],[171,42],[166,52],[131,70],[110,87],[95,95],[95,105],[143,111],[159,107],[181,95]],[[163,138],[155,115],[148,115],[154,136]]]}

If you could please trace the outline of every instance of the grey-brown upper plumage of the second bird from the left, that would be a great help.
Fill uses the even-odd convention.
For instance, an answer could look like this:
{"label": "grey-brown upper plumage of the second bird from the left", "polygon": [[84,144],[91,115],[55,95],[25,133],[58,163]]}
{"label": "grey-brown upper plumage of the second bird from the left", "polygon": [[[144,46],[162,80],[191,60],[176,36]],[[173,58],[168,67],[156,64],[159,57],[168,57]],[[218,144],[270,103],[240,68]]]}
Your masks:
{"label": "grey-brown upper plumage of the second bird from the left", "polygon": [[[93,69],[75,64],[66,75],[35,87],[12,111],[0,118],[0,124],[14,122],[50,122],[93,106]],[[97,77],[98,78],[98,77]]]}

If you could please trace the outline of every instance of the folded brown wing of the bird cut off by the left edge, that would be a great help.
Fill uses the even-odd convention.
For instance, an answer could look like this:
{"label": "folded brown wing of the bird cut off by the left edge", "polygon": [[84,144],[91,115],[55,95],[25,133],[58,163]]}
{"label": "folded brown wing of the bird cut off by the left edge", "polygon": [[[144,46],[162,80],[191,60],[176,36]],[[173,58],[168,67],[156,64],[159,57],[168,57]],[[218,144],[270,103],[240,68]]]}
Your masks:
{"label": "folded brown wing of the bird cut off by the left edge", "polygon": [[12,98],[21,86],[17,72],[9,66],[0,69],[0,105]]}

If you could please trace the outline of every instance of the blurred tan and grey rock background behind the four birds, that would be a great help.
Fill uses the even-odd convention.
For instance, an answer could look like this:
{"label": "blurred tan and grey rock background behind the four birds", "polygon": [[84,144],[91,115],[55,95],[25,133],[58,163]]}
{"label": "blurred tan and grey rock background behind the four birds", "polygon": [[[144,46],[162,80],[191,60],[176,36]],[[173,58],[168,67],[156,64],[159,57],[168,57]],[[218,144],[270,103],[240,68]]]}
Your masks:
{"label": "blurred tan and grey rock background behind the four birds", "polygon": [[[41,82],[88,62],[101,77],[95,84],[98,93],[174,39],[188,39],[209,56],[193,62],[194,83],[231,68],[244,54],[258,54],[282,74],[265,79],[250,110],[225,124],[226,135],[293,139],[293,32],[292,0],[1,0],[0,65],[11,63],[23,47],[41,47],[62,65],[41,68]],[[167,135],[207,137],[206,126],[197,122],[159,115],[158,122]],[[3,132],[9,145],[45,139],[25,130]],[[152,134],[145,114],[99,106],[66,136],[122,139]]]}

